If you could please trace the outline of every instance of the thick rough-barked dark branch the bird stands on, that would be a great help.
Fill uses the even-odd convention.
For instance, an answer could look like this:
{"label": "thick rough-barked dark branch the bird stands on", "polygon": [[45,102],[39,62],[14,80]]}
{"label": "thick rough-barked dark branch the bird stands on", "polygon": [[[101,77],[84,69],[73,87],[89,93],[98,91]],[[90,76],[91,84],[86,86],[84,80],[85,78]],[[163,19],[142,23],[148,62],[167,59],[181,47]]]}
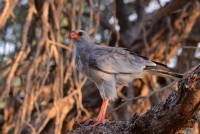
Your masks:
{"label": "thick rough-barked dark branch the bird stands on", "polygon": [[143,115],[134,115],[129,121],[109,121],[104,125],[80,124],[70,134],[83,133],[177,133],[192,127],[200,107],[200,65],[178,82],[177,91]]}

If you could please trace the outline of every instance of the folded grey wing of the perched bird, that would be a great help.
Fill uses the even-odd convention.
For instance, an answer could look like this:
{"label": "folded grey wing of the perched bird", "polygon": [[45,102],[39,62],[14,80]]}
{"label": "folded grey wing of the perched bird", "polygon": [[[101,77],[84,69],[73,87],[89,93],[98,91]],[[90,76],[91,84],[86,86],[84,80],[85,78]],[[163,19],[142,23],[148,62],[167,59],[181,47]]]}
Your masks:
{"label": "folded grey wing of the perched bird", "polygon": [[89,55],[89,67],[110,74],[140,73],[146,66],[155,65],[123,48],[99,47]]}

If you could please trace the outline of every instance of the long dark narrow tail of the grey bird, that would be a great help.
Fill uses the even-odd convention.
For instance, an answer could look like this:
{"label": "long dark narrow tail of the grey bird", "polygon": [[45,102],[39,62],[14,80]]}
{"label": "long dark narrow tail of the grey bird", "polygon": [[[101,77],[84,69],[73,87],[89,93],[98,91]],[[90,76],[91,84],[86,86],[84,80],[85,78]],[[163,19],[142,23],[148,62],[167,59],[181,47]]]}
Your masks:
{"label": "long dark narrow tail of the grey bird", "polygon": [[176,73],[170,70],[166,65],[163,65],[161,63],[156,63],[156,66],[147,66],[145,67],[145,71],[149,74],[163,76],[163,77],[169,77],[172,79],[181,79],[183,78],[183,74]]}

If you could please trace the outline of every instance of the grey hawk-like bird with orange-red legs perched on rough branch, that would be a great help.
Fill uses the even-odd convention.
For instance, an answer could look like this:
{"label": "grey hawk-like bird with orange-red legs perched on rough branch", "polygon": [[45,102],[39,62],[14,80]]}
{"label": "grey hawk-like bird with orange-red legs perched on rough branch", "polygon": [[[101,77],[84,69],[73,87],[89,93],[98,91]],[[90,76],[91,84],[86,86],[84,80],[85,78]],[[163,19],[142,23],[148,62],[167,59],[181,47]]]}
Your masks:
{"label": "grey hawk-like bird with orange-red legs perched on rough branch", "polygon": [[117,85],[127,86],[144,74],[168,76],[175,79],[182,74],[170,72],[166,65],[139,56],[122,47],[101,46],[93,44],[87,32],[74,30],[69,34],[74,42],[74,62],[77,70],[95,83],[103,99],[99,114],[93,125],[104,124],[109,101],[117,98]]}

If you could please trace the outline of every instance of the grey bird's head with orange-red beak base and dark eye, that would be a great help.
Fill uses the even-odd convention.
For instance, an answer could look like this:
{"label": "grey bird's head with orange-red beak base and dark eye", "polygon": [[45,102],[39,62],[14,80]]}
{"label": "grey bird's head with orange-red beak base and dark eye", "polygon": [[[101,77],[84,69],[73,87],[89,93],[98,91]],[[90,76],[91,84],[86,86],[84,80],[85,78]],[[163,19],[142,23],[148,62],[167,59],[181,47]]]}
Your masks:
{"label": "grey bird's head with orange-red beak base and dark eye", "polygon": [[89,35],[83,30],[75,30],[72,31],[68,37],[69,39],[73,39],[74,41],[82,41],[82,42],[90,42]]}

